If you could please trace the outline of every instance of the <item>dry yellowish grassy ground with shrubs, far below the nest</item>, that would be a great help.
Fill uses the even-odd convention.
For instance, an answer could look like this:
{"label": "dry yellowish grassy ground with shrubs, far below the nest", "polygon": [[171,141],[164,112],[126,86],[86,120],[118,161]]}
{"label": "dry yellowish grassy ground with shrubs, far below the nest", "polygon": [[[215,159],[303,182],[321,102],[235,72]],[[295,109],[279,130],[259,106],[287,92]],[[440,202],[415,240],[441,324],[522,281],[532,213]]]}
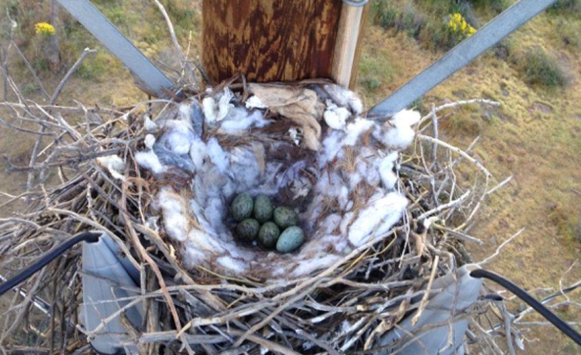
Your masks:
{"label": "dry yellowish grassy ground with shrubs, far below the nest", "polygon": [[[22,3],[26,3],[23,1]],[[13,1],[0,0],[0,5]],[[21,3],[21,4],[22,4]],[[150,56],[166,63],[171,59],[170,41],[163,19],[149,2],[95,1]],[[199,3],[164,2],[174,19],[178,38],[187,44],[192,31],[192,51],[199,48]],[[385,5],[385,2],[376,4]],[[375,8],[365,31],[357,91],[372,105],[419,73],[454,44],[446,30],[448,13],[459,12],[475,27],[485,23],[508,1],[390,1],[387,15],[378,19]],[[464,3],[464,5],[462,5]],[[581,278],[575,264],[581,249],[581,15],[578,1],[561,1],[561,7],[536,17],[417,102],[425,110],[429,103],[469,98],[490,98],[503,105],[465,107],[442,120],[442,134],[458,146],[467,146],[480,136],[475,157],[497,181],[514,179],[492,196],[482,209],[473,234],[486,245],[468,248],[475,260],[492,253],[520,228],[526,230],[508,245],[490,268],[528,289],[558,288]],[[568,7],[569,6],[569,7]],[[2,9],[5,6],[0,6]],[[385,10],[385,9],[384,9]],[[20,13],[28,22],[46,20],[45,12],[28,9]],[[3,13],[3,12],[2,12]],[[380,14],[381,15],[381,14]],[[119,62],[101,48],[83,28],[62,14],[64,63],[74,62],[85,46],[98,48],[97,55],[67,85],[61,104],[73,98],[85,105],[123,106],[144,99],[132,85]],[[388,20],[385,20],[388,19]],[[392,19],[392,20],[389,20]],[[393,20],[395,19],[395,20]],[[24,26],[26,21],[21,21]],[[61,73],[44,69],[42,53],[35,50],[38,38],[30,28],[19,28],[19,43],[37,68],[47,90],[56,87]],[[64,42],[63,42],[64,43]],[[10,67],[21,89],[40,98],[33,78],[21,64]],[[161,64],[160,64],[161,65]],[[15,139],[19,141],[15,145]],[[0,131],[0,152],[26,164],[34,139]],[[16,193],[26,177],[0,174],[3,191]],[[12,211],[2,207],[0,214]],[[572,297],[579,300],[579,292]],[[562,317],[580,320],[579,311],[561,310]],[[533,328],[525,336],[525,353],[573,354],[576,348],[552,327]],[[534,349],[534,350],[533,350]]]}

